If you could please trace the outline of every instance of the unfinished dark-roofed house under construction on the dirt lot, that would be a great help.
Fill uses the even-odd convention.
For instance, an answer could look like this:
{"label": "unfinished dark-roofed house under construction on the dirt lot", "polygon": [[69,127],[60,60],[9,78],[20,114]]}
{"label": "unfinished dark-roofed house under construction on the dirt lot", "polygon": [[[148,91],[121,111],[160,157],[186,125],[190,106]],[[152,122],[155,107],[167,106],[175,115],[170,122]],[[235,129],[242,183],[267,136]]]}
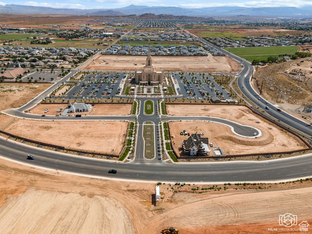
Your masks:
{"label": "unfinished dark-roofed house under construction on the dirt lot", "polygon": [[191,134],[187,140],[183,140],[182,148],[185,156],[207,156],[207,154],[210,155],[208,144],[209,139],[207,137]]}

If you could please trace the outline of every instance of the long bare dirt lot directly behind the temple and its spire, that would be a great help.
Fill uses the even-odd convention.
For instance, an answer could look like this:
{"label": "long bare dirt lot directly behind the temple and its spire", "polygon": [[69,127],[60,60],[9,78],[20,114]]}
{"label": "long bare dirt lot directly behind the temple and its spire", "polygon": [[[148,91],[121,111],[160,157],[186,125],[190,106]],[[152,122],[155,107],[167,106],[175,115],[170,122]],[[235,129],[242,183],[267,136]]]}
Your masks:
{"label": "long bare dirt lot directly behind the temple and its spire", "polygon": [[[153,65],[164,71],[220,71],[237,72],[239,65],[226,56],[153,56]],[[106,61],[104,61],[106,60]],[[119,62],[118,62],[119,60]],[[89,64],[81,67],[86,70],[134,71],[146,64],[146,56],[101,55]],[[104,61],[104,62],[102,62]],[[127,62],[128,61],[128,62]]]}

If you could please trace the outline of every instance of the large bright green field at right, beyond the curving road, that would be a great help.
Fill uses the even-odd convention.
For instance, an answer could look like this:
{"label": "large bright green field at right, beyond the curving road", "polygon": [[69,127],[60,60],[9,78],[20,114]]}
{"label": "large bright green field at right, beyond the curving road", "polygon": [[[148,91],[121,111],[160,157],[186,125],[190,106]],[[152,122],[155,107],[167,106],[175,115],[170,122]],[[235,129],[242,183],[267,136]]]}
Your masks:
{"label": "large bright green field at right, beyond the curving road", "polygon": [[239,47],[224,49],[251,62],[254,59],[261,61],[266,60],[269,56],[278,57],[283,54],[294,54],[298,51],[297,46]]}

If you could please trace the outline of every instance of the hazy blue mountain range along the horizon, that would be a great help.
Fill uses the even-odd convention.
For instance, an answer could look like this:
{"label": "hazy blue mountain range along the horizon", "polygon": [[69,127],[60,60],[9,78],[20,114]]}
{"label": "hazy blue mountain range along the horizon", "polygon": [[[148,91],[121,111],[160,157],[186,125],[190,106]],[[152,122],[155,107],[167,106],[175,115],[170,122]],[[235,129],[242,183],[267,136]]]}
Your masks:
{"label": "hazy blue mountain range along the horizon", "polygon": [[74,9],[34,7],[16,4],[0,6],[0,14],[50,14],[50,15],[92,15],[92,16],[126,16],[126,15],[173,15],[173,16],[196,16],[217,17],[249,15],[261,17],[312,17],[312,7],[148,7],[129,5],[115,9]]}

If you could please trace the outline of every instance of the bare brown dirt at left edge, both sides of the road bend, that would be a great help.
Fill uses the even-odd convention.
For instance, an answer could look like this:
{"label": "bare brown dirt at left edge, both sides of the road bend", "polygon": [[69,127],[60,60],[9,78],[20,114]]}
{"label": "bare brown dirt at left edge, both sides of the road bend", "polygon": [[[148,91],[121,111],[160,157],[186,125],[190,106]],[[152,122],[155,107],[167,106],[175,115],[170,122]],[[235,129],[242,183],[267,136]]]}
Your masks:
{"label": "bare brown dirt at left edge, both sides of the road bend", "polygon": [[[8,108],[17,108],[50,87],[51,84],[0,84],[0,111]],[[0,126],[13,119],[11,116],[0,113]]]}

